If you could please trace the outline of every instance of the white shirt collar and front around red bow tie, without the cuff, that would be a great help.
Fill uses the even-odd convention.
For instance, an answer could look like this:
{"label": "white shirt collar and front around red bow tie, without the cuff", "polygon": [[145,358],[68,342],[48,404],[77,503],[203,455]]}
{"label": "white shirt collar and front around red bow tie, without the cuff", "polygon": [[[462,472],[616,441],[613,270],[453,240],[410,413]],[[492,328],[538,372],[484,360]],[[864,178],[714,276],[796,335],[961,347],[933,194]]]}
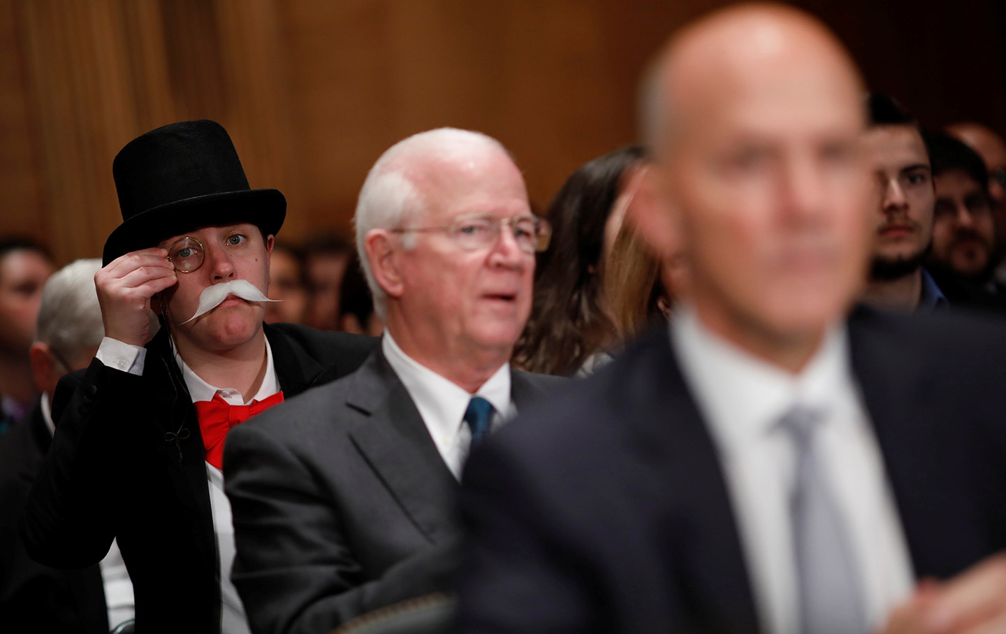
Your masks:
{"label": "white shirt collar and front around red bow tie, without the cuff", "polygon": [[[230,405],[247,405],[253,401],[263,401],[280,391],[280,381],[276,376],[276,366],[273,364],[273,348],[266,339],[266,375],[255,397],[244,401],[241,392],[232,387],[215,387],[192,371],[175,350],[175,362],[182,371],[182,379],[192,397],[192,403],[212,401],[214,395]],[[237,589],[230,581],[230,569],[234,564],[234,522],[230,512],[230,500],[223,492],[223,472],[213,465],[206,464],[206,479],[209,482],[209,504],[213,511],[213,533],[216,536],[217,563],[220,566],[220,633],[249,634],[247,616],[244,604],[237,595]]]}

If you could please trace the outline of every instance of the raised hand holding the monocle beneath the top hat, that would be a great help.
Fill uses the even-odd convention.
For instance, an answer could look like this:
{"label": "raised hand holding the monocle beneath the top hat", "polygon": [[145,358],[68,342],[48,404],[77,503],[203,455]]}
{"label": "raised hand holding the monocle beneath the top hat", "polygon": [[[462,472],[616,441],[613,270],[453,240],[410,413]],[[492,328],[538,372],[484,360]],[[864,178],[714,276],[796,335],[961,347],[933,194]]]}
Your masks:
{"label": "raised hand holding the monocle beneath the top hat", "polygon": [[178,282],[164,249],[120,256],[95,274],[105,336],[132,345],[150,339],[150,298]]}

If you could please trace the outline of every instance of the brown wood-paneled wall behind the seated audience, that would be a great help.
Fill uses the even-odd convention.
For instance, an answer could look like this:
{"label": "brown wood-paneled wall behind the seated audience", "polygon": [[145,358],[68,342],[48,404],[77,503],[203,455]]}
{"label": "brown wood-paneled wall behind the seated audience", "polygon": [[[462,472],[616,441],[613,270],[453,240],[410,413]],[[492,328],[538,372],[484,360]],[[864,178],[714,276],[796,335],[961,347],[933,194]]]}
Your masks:
{"label": "brown wood-paneled wall behind the seated audience", "polygon": [[[395,141],[437,126],[506,144],[544,206],[634,136],[637,77],[716,0],[0,0],[2,232],[60,262],[118,224],[112,158],[134,136],[211,118],[253,186],[290,203],[281,237],[348,231]],[[1006,131],[1002,0],[806,0],[870,85],[926,122]]]}

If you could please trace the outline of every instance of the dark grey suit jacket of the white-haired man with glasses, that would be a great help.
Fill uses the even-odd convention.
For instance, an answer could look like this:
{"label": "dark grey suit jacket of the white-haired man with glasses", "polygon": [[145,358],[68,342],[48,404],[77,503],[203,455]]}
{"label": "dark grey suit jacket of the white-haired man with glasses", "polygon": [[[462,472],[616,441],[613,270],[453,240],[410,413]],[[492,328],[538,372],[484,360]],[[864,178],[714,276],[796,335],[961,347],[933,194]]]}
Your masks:
{"label": "dark grey suit jacket of the white-haired man with glasses", "polygon": [[[556,381],[515,371],[514,403]],[[448,588],[457,480],[380,349],[233,430],[223,470],[253,632],[328,632]]]}

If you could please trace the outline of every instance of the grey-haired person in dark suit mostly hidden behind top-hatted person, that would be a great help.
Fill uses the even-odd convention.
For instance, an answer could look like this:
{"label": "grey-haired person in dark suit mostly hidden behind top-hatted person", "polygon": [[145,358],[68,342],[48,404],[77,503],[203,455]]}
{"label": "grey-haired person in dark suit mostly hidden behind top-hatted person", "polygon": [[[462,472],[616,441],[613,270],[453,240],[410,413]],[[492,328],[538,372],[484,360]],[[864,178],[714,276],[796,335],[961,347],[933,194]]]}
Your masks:
{"label": "grey-haired person in dark suit mostly hidden behind top-hatted person", "polygon": [[52,443],[56,382],[87,367],[105,335],[95,292],[101,268],[101,260],[77,260],[45,283],[31,344],[32,376],[42,395],[0,438],[0,625],[5,630],[30,623],[35,632],[105,634],[133,618],[133,585],[115,541],[100,566],[57,570],[31,561],[17,534],[17,516]]}

